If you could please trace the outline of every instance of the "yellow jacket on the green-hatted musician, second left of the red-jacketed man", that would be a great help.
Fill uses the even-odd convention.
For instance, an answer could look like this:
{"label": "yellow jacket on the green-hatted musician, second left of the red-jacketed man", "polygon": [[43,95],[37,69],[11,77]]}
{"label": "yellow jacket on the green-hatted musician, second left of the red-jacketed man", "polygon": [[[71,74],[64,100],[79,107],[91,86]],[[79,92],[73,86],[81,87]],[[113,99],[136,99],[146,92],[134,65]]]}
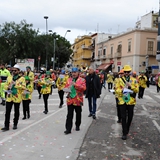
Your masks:
{"label": "yellow jacket on the green-hatted musician, second left of the red-jacketed man", "polygon": [[52,86],[52,78],[42,78],[40,81],[41,93],[42,94],[50,94],[51,93],[51,86]]}

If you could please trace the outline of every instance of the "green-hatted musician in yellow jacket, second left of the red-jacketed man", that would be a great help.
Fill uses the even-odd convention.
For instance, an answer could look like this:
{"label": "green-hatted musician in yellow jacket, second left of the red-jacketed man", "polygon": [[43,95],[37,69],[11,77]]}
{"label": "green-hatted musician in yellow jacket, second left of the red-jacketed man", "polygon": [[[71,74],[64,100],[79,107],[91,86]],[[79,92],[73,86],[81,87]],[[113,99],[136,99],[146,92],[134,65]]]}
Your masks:
{"label": "green-hatted musician in yellow jacket, second left of the red-jacketed man", "polygon": [[46,71],[45,77],[42,78],[40,81],[40,84],[42,86],[41,88],[41,94],[43,94],[43,101],[44,101],[44,114],[48,113],[48,98],[49,94],[51,92],[51,85],[52,85],[52,78],[51,78],[51,72]]}

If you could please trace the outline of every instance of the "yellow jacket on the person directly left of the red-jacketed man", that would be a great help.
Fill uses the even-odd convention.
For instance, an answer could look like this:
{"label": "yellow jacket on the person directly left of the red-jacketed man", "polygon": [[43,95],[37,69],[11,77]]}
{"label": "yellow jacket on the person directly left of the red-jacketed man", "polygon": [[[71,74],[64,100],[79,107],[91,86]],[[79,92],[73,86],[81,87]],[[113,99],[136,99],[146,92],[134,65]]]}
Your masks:
{"label": "yellow jacket on the person directly left of the red-jacketed man", "polygon": [[68,79],[68,76],[59,75],[57,82],[56,82],[56,85],[59,91],[63,90],[63,88],[66,85],[67,79]]}

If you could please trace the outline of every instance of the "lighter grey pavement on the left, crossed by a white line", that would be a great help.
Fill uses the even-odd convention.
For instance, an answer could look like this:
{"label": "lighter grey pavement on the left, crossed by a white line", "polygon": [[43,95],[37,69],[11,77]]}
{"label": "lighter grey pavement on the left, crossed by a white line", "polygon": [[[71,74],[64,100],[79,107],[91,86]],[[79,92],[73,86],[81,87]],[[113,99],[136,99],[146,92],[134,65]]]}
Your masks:
{"label": "lighter grey pavement on the left, crossed by a white line", "polygon": [[[98,99],[98,105],[104,93]],[[66,95],[65,102],[66,102]],[[30,104],[30,119],[22,120],[22,105],[18,129],[13,130],[13,110],[11,113],[10,130],[0,130],[0,160],[76,160],[92,118],[88,117],[88,103],[84,99],[82,108],[82,124],[80,131],[75,131],[75,117],[72,133],[65,135],[67,115],[66,104],[59,108],[57,89],[53,90],[49,100],[49,112],[44,114],[43,99],[38,99],[38,93],[33,92]],[[0,105],[0,129],[4,126],[5,106]]]}

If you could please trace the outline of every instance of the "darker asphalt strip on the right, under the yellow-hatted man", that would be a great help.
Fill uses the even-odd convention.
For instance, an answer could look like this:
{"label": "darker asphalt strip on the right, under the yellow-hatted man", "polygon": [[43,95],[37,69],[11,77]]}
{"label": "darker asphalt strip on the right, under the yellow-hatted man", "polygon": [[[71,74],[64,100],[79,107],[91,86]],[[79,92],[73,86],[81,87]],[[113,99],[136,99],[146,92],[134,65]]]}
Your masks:
{"label": "darker asphalt strip on the right, under the yellow-hatted man", "polygon": [[106,95],[92,121],[77,160],[160,160],[160,93],[156,86],[137,98],[130,133],[122,140],[114,95]]}

